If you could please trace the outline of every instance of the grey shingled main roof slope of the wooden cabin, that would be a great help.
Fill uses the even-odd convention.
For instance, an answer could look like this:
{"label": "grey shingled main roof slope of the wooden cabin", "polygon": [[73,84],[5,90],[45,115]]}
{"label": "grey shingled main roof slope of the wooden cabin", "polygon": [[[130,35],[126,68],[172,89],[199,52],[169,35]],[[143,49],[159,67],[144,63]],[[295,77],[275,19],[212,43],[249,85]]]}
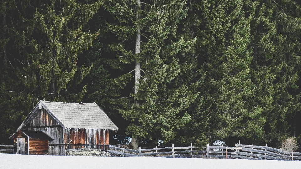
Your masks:
{"label": "grey shingled main roof slope of the wooden cabin", "polygon": [[118,130],[107,114],[94,103],[62,103],[40,101],[46,110],[68,128]]}

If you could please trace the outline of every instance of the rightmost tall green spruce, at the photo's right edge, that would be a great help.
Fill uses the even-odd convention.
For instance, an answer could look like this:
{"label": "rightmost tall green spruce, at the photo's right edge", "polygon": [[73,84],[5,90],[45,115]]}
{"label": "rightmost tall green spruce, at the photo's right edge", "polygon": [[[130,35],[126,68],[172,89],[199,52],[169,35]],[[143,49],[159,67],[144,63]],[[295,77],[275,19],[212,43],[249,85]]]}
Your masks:
{"label": "rightmost tall green spruce, at the photo's right edge", "polygon": [[251,1],[252,81],[254,100],[266,118],[264,141],[275,145],[283,136],[296,136],[300,110],[296,81],[300,72],[301,10],[299,1]]}

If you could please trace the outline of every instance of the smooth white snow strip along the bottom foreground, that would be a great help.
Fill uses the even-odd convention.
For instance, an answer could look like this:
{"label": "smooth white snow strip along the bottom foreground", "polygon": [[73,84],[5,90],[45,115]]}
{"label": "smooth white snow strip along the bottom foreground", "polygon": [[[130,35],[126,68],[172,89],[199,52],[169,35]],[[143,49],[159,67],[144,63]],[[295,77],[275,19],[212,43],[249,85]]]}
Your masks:
{"label": "smooth white snow strip along the bottom foreground", "polygon": [[0,169],[290,169],[301,168],[301,161],[236,160],[162,157],[32,156],[0,153]]}

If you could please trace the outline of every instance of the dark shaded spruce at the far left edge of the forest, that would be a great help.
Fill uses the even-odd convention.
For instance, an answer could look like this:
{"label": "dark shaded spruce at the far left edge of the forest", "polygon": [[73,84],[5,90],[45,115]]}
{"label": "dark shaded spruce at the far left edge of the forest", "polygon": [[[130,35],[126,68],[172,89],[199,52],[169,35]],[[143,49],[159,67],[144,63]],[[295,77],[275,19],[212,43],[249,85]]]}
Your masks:
{"label": "dark shaded spruce at the far left edge of the forest", "polygon": [[0,144],[11,144],[8,137],[14,132],[21,111],[22,95],[19,95],[19,80],[14,71],[13,57],[6,52],[10,39],[7,30],[8,12],[13,7],[12,1],[0,2]]}

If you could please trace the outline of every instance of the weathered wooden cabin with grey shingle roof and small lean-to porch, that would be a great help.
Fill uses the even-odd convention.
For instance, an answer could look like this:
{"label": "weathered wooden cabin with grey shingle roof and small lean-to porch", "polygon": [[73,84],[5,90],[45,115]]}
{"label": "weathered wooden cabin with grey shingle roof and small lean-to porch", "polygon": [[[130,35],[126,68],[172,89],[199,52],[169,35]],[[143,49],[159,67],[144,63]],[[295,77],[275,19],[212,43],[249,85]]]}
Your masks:
{"label": "weathered wooden cabin with grey shingle roof and small lean-to porch", "polygon": [[10,138],[15,154],[65,155],[66,149],[107,149],[109,130],[118,127],[95,102],[40,100]]}

